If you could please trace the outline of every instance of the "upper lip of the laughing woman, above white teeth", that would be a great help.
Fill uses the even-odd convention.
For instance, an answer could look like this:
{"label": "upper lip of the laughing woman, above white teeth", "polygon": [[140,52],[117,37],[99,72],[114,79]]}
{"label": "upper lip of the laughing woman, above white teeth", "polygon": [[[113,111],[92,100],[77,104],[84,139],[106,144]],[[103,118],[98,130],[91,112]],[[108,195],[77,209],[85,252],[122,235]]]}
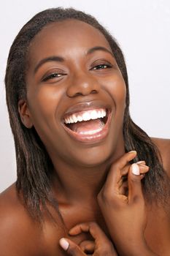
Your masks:
{"label": "upper lip of the laughing woman, above white teeth", "polygon": [[73,113],[77,113],[80,111],[86,111],[86,110],[93,110],[98,108],[104,108],[107,110],[111,110],[111,105],[109,105],[106,102],[103,102],[101,100],[93,100],[88,102],[79,102],[75,105],[72,105],[70,108],[66,110],[66,112],[63,114],[63,118],[66,118],[66,116],[70,116]]}

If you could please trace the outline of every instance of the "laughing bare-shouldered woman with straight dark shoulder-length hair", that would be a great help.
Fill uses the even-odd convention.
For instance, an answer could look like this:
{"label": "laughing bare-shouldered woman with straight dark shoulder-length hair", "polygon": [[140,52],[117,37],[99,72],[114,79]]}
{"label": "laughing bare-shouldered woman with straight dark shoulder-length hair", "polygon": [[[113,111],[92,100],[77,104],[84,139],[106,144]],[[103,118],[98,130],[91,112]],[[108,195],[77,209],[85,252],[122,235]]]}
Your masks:
{"label": "laughing bare-shouldered woman with straight dark shoulder-length hair", "polygon": [[5,83],[18,180],[1,194],[1,252],[169,255],[169,140],[131,121],[115,39],[83,12],[39,12]]}

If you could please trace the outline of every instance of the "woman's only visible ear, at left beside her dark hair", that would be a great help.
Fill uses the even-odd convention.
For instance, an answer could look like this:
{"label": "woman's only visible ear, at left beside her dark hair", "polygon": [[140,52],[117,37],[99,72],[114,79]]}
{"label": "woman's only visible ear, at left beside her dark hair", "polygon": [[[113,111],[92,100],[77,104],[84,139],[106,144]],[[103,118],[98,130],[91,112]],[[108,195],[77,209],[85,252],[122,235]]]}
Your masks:
{"label": "woman's only visible ear, at left beside her dark hair", "polygon": [[31,114],[29,112],[28,104],[25,99],[20,99],[18,102],[18,112],[20,113],[20,119],[27,128],[33,127],[31,120]]}

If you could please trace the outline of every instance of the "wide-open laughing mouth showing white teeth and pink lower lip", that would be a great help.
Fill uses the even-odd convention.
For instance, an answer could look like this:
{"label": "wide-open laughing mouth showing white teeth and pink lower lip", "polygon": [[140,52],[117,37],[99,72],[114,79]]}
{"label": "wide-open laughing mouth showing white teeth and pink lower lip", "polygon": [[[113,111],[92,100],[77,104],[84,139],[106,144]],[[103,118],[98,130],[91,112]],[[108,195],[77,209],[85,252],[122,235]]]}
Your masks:
{"label": "wide-open laughing mouth showing white teeth and pink lower lip", "polygon": [[71,113],[63,118],[63,127],[75,140],[92,143],[107,136],[110,116],[107,108]]}

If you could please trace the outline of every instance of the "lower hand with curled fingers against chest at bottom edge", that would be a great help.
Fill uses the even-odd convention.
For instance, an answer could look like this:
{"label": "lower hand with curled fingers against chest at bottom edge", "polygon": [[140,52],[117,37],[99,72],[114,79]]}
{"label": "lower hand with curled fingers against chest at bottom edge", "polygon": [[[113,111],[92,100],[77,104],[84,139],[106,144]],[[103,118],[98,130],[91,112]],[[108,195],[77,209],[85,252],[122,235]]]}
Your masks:
{"label": "lower hand with curled fingers against chest at bottom edge", "polygon": [[95,241],[82,241],[80,245],[74,244],[68,238],[61,238],[60,245],[68,255],[85,256],[85,252],[92,253],[93,256],[117,256],[115,248],[105,233],[96,222],[86,222],[76,225],[69,231],[69,235],[77,236],[82,232],[89,232]]}

